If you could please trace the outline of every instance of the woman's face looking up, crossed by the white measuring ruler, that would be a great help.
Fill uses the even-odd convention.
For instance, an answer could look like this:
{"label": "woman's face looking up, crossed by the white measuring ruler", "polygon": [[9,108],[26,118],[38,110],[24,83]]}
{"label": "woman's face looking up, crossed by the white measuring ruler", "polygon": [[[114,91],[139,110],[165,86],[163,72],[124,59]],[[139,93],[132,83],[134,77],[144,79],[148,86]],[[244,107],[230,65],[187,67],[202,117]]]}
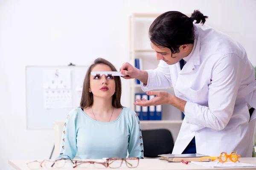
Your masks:
{"label": "woman's face looking up, crossed by the white measuring ruler", "polygon": [[[108,65],[98,64],[91,71],[112,71]],[[90,74],[90,91],[93,96],[101,98],[110,98],[116,91],[116,83],[114,77],[106,76],[93,76]]]}

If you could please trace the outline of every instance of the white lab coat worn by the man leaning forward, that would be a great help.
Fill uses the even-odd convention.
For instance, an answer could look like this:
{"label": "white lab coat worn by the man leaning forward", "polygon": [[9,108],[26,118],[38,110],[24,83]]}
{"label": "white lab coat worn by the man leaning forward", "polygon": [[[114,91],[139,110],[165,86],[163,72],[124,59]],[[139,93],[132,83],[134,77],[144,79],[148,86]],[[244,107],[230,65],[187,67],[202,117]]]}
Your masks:
{"label": "white lab coat worn by the man leaning forward", "polygon": [[195,45],[183,69],[179,62],[167,65],[161,60],[155,70],[147,70],[148,82],[141,88],[173,87],[187,101],[173,154],[181,154],[195,136],[197,153],[236,151],[251,157],[256,112],[250,118],[247,104],[256,108],[253,65],[244,48],[226,34],[194,26]]}

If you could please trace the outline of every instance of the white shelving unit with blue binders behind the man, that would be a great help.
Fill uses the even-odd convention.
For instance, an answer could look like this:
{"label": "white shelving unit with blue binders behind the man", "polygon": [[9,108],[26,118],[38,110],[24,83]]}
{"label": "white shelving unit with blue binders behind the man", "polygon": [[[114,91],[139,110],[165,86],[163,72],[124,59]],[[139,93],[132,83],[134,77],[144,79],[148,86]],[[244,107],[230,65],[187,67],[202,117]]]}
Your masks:
{"label": "white shelving unit with blue binders behind the man", "polygon": [[[159,14],[133,14],[130,17],[130,63],[139,67],[141,70],[155,69],[159,61],[156,59],[155,51],[151,48],[151,43],[148,37],[148,28],[151,23],[154,21]],[[135,41],[136,40],[136,41]],[[139,62],[139,64],[138,64]],[[136,108],[134,105],[136,95],[139,99],[142,98],[142,95],[145,95],[145,92],[140,88],[140,82],[136,79],[133,79],[131,82],[131,105],[134,111],[140,111],[140,119],[143,120],[146,124],[151,124],[158,126],[159,123],[166,125],[168,123],[180,124],[182,123],[180,111],[177,108],[172,107],[171,105],[162,105],[162,106],[151,106],[145,108]],[[153,90],[157,91],[157,90]],[[168,89],[169,93],[174,94],[173,89]],[[145,97],[148,97],[145,95]],[[151,96],[153,97],[153,96]],[[149,99],[146,98],[146,99]],[[139,110],[139,111],[138,111]],[[161,116],[151,116],[154,112],[154,115],[157,113],[162,113]],[[142,113],[147,113],[147,116]],[[176,114],[177,113],[177,114]],[[158,120],[157,120],[158,119]],[[154,121],[151,121],[154,120]]]}

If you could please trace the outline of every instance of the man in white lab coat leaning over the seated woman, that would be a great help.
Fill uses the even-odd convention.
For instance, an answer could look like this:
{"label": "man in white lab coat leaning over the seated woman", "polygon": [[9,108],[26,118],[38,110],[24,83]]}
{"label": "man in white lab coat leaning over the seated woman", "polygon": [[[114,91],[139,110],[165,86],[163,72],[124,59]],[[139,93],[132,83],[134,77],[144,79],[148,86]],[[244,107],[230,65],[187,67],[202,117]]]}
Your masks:
{"label": "man in white lab coat leaning over the seated woman", "polygon": [[[120,71],[125,79],[139,79],[148,95],[156,95],[151,100],[137,99],[134,105],[169,104],[185,114],[173,154],[218,156],[235,151],[251,157],[255,71],[238,42],[202,26],[206,18],[198,10],[192,17],[178,11],[161,14],[149,28],[158,67],[142,71],[126,62]],[[175,96],[150,91],[171,87]]]}

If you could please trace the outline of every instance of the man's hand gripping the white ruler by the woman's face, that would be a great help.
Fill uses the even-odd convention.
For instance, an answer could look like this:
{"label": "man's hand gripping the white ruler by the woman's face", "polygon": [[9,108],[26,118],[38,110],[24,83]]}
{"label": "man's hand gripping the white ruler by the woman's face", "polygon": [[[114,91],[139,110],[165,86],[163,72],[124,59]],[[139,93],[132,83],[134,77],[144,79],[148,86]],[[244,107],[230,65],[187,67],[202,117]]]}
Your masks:
{"label": "man's hand gripping the white ruler by the woman's face", "polygon": [[119,70],[121,71],[121,74],[125,75],[122,76],[124,79],[136,78],[140,71],[139,69],[132,66],[129,62],[125,62]]}

